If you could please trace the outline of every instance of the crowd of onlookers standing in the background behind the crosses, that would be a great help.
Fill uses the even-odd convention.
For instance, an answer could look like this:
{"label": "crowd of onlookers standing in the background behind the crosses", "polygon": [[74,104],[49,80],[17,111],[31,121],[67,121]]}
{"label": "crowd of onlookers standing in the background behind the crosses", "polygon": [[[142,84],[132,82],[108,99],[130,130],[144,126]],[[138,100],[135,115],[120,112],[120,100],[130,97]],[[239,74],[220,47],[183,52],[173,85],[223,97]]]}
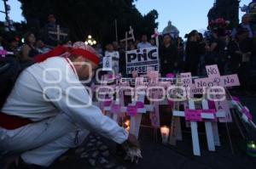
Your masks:
{"label": "crowd of onlookers standing in the background behind the crosses", "polygon": [[[49,32],[55,26],[54,15],[49,15],[49,24],[45,29]],[[21,62],[27,62],[38,54],[48,52],[53,45],[52,35],[49,38],[36,38],[32,32],[24,35],[24,42],[15,36],[4,37],[0,35],[0,46],[14,52],[15,57]],[[256,33],[253,25],[250,24],[250,16],[245,14],[241,24],[227,34],[222,27],[215,27],[202,35],[198,31],[191,31],[185,37],[172,37],[171,34],[160,36],[160,73],[161,76],[172,72],[191,72],[193,76],[205,75],[205,65],[218,65],[221,75],[237,73],[241,83],[246,86],[246,79],[251,68],[255,67],[255,45]],[[61,45],[71,46],[68,39],[62,41]],[[128,42],[127,50],[149,48],[156,46],[155,39],[148,40],[147,35],[141,36],[140,41]],[[125,43],[111,42],[102,48],[102,44],[96,44],[96,51],[102,58],[111,56],[113,70],[116,73],[125,73]]]}

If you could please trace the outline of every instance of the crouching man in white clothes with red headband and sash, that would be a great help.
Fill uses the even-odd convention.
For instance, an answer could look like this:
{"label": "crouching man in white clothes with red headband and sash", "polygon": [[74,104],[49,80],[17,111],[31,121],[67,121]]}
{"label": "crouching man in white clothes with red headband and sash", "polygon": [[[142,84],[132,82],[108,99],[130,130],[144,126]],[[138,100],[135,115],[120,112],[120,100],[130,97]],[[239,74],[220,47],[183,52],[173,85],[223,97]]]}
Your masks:
{"label": "crouching man in white clothes with red headband and sash", "polygon": [[18,123],[30,122],[12,126],[17,119],[7,125],[0,119],[0,155],[18,153],[27,164],[49,166],[81,144],[89,131],[137,146],[134,136],[90,104],[90,95],[80,82],[92,76],[90,66],[93,71],[99,63],[94,49],[76,42],[67,51],[20,74],[0,114],[7,120],[22,119]]}

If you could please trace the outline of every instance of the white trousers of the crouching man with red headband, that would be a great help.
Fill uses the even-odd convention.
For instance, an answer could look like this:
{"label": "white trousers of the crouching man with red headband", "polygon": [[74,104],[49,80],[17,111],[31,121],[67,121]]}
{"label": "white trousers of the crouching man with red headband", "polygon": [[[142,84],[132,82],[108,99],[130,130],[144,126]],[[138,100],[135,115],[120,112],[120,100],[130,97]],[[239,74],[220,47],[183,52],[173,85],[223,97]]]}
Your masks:
{"label": "white trousers of the crouching man with red headband", "polygon": [[0,127],[0,155],[21,153],[27,164],[49,166],[68,149],[82,144],[88,134],[64,114],[15,130]]}

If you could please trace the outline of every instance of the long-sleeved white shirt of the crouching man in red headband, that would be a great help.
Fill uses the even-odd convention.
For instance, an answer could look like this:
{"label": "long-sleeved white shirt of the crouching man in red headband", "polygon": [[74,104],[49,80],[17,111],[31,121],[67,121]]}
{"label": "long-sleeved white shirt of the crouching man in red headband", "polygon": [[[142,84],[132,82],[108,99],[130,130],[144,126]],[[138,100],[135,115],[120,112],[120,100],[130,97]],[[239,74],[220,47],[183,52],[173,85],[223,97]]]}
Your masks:
{"label": "long-sleeved white shirt of the crouching man in red headband", "polygon": [[65,113],[80,127],[123,143],[128,137],[125,129],[102,115],[98,107],[92,104],[84,107],[90,101],[90,95],[67,60],[54,57],[32,65],[20,74],[2,112],[32,121]]}

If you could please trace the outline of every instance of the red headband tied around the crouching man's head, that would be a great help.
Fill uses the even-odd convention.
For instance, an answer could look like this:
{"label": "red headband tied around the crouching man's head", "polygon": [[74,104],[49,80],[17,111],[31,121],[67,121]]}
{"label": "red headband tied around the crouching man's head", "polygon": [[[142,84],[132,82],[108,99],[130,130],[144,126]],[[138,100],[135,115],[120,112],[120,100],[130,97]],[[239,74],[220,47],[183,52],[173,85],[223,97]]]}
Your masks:
{"label": "red headband tied around the crouching man's head", "polygon": [[95,63],[96,65],[99,65],[100,63],[99,57],[96,54],[90,52],[89,50],[84,50],[81,48],[65,48],[62,46],[58,46],[46,54],[38,54],[37,56],[34,57],[34,60],[36,62],[43,62],[46,59],[49,59],[55,56],[60,56],[61,54],[64,54],[66,52],[68,52],[69,54],[81,55],[85,59],[89,59],[91,62]]}

